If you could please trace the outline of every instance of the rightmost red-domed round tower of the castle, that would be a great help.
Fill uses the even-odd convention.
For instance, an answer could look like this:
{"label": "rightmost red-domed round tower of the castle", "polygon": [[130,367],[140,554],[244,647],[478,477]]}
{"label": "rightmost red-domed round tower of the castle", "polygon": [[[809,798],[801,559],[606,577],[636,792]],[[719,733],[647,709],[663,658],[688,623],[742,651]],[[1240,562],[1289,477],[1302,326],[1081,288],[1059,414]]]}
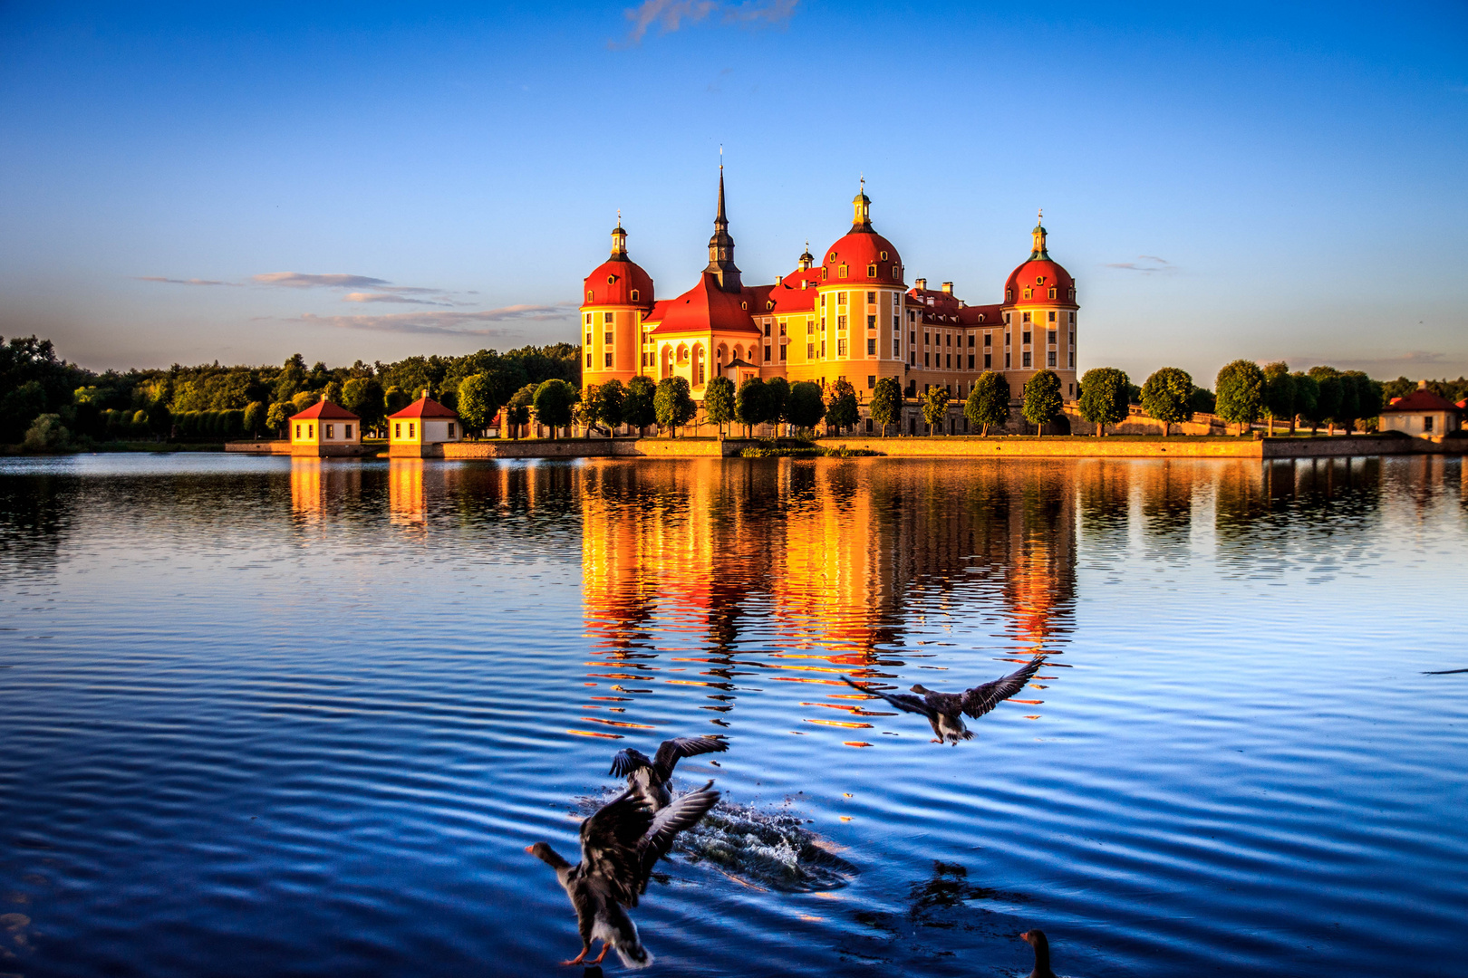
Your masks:
{"label": "rightmost red-domed round tower of the castle", "polygon": [[[1044,211],[1041,211],[1044,218]],[[1045,249],[1035,223],[1029,260],[1004,283],[1004,378],[1014,396],[1041,369],[1060,375],[1060,393],[1076,397],[1076,280]]]}

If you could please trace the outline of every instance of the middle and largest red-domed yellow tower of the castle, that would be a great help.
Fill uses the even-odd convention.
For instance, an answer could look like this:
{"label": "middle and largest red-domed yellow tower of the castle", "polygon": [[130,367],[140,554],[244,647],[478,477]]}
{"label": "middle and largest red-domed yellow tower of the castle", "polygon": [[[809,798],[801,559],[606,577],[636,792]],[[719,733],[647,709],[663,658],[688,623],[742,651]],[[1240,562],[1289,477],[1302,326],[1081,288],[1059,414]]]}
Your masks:
{"label": "middle and largest red-domed yellow tower of the castle", "polygon": [[[846,378],[869,391],[882,377],[903,375],[903,258],[872,229],[866,180],[851,199],[851,230],[821,255],[816,330],[791,343],[790,380],[834,384]],[[813,270],[812,270],[813,271]]]}

